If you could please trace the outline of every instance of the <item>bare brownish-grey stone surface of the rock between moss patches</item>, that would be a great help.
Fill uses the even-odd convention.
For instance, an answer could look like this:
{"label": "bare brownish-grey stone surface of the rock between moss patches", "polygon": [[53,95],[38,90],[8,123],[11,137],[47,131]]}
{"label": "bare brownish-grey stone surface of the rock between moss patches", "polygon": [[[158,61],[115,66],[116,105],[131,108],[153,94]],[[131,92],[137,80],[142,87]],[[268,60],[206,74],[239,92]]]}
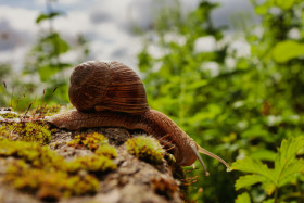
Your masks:
{"label": "bare brownish-grey stone surface of the rock between moss patches", "polygon": [[[1,125],[1,124],[0,124]],[[2,123],[3,125],[3,123]],[[72,196],[69,199],[61,199],[61,203],[83,203],[83,202],[106,202],[106,203],[160,203],[160,202],[183,202],[180,196],[179,180],[173,178],[170,166],[163,160],[163,164],[154,166],[136,156],[130,155],[124,142],[138,134],[139,131],[128,131],[123,128],[92,128],[81,131],[68,131],[56,129],[52,132],[52,140],[49,144],[50,149],[62,155],[65,160],[73,160],[76,156],[85,156],[92,154],[87,149],[75,149],[68,147],[73,137],[79,132],[98,131],[109,138],[109,143],[117,150],[117,169],[103,175],[100,178],[100,191],[94,195]],[[10,158],[10,157],[9,157]],[[5,162],[9,158],[0,160],[0,179],[5,172]],[[167,182],[169,195],[157,190],[155,182]],[[25,194],[8,186],[0,183],[0,202],[1,203],[36,203],[41,202],[31,194]]]}

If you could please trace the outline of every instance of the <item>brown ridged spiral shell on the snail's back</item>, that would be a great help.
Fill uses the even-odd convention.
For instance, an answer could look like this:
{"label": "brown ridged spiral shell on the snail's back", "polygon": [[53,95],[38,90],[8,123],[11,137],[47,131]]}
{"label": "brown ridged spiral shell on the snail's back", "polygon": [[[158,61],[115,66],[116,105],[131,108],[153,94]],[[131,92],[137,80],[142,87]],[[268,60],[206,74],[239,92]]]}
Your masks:
{"label": "brown ridged spiral shell on the snail's back", "polygon": [[71,75],[71,103],[80,112],[110,110],[142,114],[149,110],[138,75],[118,62],[88,61]]}

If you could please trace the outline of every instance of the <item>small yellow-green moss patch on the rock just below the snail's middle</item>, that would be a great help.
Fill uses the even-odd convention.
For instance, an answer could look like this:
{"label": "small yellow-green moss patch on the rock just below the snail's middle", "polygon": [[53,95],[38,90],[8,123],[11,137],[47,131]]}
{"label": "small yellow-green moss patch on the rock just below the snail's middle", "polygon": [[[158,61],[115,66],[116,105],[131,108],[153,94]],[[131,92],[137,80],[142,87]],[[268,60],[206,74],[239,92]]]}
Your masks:
{"label": "small yellow-green moss patch on the rock just below the snail's middle", "polygon": [[106,144],[107,139],[98,132],[92,134],[80,134],[74,137],[74,140],[67,144],[74,148],[88,148],[89,150],[96,151],[100,145]]}

